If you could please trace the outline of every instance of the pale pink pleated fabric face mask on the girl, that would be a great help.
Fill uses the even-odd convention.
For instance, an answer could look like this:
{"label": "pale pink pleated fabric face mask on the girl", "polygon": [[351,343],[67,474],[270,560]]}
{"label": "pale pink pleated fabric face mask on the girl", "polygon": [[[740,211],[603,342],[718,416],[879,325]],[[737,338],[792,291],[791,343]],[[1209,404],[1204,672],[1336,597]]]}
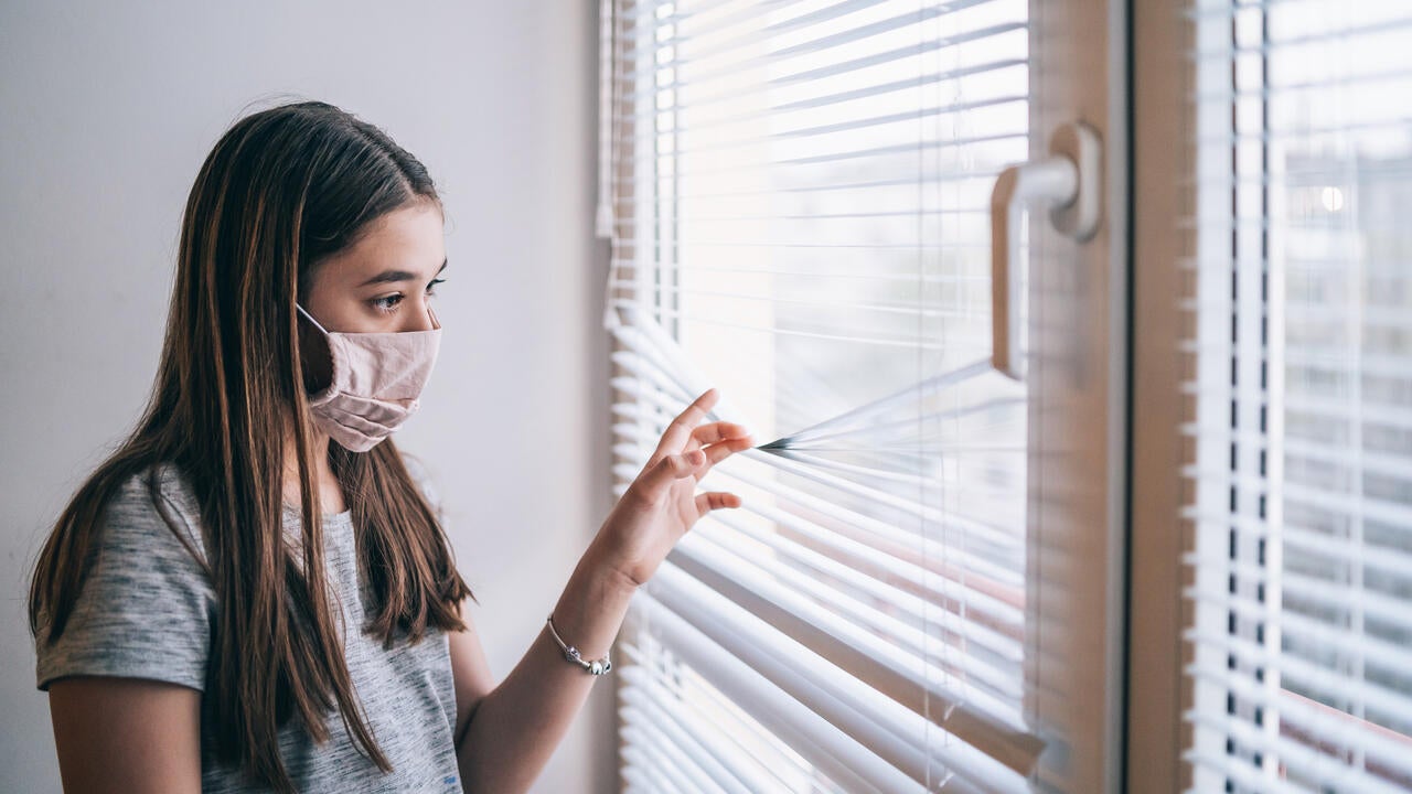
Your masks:
{"label": "pale pink pleated fabric face mask on the girl", "polygon": [[436,314],[428,309],[431,331],[336,333],[295,308],[323,333],[333,363],[329,387],[309,396],[313,424],[345,449],[367,452],[417,411],[441,346]]}

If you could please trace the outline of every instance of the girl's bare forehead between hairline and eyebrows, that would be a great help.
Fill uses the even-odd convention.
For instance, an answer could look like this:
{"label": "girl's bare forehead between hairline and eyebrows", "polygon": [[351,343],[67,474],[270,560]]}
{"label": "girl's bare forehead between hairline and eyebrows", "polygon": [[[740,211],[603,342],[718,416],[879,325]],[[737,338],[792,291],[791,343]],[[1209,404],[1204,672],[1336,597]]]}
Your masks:
{"label": "girl's bare forehead between hairline and eyebrows", "polygon": [[383,270],[407,270],[431,278],[446,260],[441,208],[418,202],[373,220],[347,250],[325,263],[323,277],[353,281]]}

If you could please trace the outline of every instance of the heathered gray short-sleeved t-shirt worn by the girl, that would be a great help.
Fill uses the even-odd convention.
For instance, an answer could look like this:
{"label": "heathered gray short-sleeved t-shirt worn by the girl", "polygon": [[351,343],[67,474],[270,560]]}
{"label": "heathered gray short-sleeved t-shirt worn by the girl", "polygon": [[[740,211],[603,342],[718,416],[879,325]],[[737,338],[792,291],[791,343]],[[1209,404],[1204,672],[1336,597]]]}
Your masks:
{"label": "heathered gray short-sleeved t-shirt worn by the girl", "polygon": [[[429,499],[425,476],[414,478]],[[160,494],[196,554],[205,554],[195,497],[172,466],[160,469]],[[435,502],[432,502],[436,506]],[[298,538],[298,513],[285,510],[285,533]],[[205,691],[215,593],[192,552],[168,530],[152,504],[147,476],[134,478],[109,503],[102,554],[79,595],[64,634],[37,643],[38,687],[65,675],[120,675],[169,681]],[[332,711],[332,739],[316,745],[297,719],[280,729],[280,752],[299,791],[460,791],[453,736],[456,695],[446,634],[428,629],[415,646],[361,632],[371,589],[357,569],[349,513],[325,516],[329,585],[342,605],[343,653],[369,726],[393,771],[359,752]],[[359,598],[353,598],[357,595]],[[44,626],[41,623],[41,637]],[[251,780],[216,759],[209,705],[203,701],[202,791],[254,791]]]}

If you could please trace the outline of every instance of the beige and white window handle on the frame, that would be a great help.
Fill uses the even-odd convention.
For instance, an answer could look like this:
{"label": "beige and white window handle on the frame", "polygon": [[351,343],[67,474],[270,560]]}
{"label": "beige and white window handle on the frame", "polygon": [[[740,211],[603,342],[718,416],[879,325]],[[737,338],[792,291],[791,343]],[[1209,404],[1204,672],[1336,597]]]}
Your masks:
{"label": "beige and white window handle on the frame", "polygon": [[1083,122],[1055,130],[1051,155],[1000,172],[990,194],[991,365],[1024,379],[1019,356],[1019,275],[1012,256],[1019,249],[1019,209],[1031,201],[1052,203],[1049,218],[1059,232],[1079,240],[1099,229],[1099,133]]}

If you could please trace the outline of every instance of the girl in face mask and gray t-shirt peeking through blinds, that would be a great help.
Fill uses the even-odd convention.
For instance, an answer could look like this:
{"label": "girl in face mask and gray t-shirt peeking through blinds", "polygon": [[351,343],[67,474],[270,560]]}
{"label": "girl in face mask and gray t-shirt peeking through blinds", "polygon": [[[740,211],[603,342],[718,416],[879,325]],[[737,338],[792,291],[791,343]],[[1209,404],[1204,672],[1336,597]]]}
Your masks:
{"label": "girl in face mask and gray t-shirt peeking through blinds", "polygon": [[133,435],[30,589],[66,791],[522,791],[633,592],[750,446],[661,438],[511,674],[490,680],[435,492],[390,438],[417,408],[446,256],[426,170],[319,102],[236,123],[182,223],[161,367]]}

